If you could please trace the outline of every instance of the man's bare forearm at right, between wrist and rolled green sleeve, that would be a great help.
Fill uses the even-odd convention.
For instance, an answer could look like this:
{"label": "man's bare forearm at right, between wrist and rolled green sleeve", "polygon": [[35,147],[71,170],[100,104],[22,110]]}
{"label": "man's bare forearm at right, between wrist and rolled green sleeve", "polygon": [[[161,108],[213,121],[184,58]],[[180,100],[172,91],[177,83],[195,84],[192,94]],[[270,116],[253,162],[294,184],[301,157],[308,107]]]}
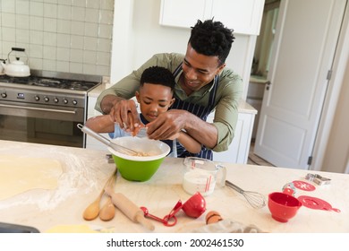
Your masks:
{"label": "man's bare forearm at right, between wrist and rolled green sleeve", "polygon": [[218,132],[216,126],[203,121],[200,117],[191,114],[185,123],[184,129],[187,134],[190,134],[192,138],[209,149],[213,149],[217,145]]}

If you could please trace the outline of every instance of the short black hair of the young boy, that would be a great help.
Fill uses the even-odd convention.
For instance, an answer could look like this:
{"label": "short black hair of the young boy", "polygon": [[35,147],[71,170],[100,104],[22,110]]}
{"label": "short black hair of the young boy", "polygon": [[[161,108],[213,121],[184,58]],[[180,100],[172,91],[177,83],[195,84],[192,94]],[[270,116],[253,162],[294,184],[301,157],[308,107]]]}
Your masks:
{"label": "short black hair of the young boy", "polygon": [[145,82],[161,84],[171,88],[171,91],[174,91],[174,74],[164,67],[150,66],[145,69],[140,77],[140,86],[143,86]]}

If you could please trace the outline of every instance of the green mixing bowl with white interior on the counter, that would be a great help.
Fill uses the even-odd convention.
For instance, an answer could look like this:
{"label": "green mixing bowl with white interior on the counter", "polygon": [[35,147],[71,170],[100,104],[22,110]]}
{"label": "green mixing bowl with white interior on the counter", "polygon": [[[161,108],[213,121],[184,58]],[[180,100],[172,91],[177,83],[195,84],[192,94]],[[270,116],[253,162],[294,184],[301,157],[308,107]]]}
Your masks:
{"label": "green mixing bowl with white interior on the counter", "polygon": [[130,181],[149,180],[157,172],[166,155],[170,152],[170,147],[166,143],[149,140],[148,138],[128,136],[113,139],[111,142],[148,155],[132,156],[108,147],[108,151],[112,153],[121,176]]}

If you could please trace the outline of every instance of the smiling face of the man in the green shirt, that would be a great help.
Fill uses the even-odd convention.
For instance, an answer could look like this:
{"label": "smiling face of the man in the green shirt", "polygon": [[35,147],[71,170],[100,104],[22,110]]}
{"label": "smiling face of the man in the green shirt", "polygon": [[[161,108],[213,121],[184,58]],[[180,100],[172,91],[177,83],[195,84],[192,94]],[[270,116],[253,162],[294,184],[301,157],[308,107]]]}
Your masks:
{"label": "smiling face of the man in the green shirt", "polygon": [[182,88],[190,95],[192,91],[198,91],[201,87],[209,84],[216,74],[226,66],[218,64],[218,56],[204,56],[198,54],[188,44],[183,60],[183,82]]}

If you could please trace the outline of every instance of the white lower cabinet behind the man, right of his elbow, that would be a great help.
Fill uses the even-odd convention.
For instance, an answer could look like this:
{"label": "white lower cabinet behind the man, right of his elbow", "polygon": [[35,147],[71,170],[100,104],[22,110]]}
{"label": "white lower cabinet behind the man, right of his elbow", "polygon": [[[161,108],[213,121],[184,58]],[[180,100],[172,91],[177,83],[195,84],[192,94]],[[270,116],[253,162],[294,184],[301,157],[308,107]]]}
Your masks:
{"label": "white lower cabinet behind the man, right of his elbow", "polygon": [[[214,151],[214,161],[239,164],[247,163],[256,113],[257,110],[255,108],[252,108],[245,101],[241,101],[233,142],[229,145],[227,151]],[[213,117],[214,114],[210,114],[208,117],[208,122],[212,122]]]}

